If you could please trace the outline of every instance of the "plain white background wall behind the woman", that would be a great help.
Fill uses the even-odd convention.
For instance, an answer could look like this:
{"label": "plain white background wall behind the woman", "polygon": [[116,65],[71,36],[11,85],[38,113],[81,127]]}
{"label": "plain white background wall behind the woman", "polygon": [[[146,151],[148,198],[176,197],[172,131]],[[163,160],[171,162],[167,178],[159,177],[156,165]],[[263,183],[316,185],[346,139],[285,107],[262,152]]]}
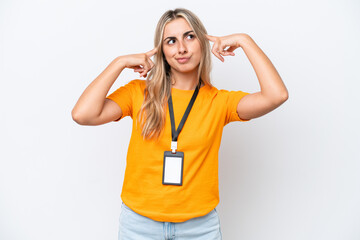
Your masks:
{"label": "plain white background wall behind the woman", "polygon": [[[176,7],[211,35],[249,34],[289,90],[273,112],[224,128],[223,238],[360,239],[357,0],[2,0],[0,239],[117,239],[131,118],[81,126],[71,110],[115,57],[151,50]],[[259,91],[235,54],[213,56],[214,85]],[[124,70],[109,93],[135,78]]]}

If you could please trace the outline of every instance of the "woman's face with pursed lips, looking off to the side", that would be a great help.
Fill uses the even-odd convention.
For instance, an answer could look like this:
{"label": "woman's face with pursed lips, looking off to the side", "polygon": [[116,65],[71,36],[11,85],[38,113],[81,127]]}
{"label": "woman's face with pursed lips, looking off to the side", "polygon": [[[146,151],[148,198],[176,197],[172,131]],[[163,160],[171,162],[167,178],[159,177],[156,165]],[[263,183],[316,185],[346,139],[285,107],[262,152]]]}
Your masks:
{"label": "woman's face with pursed lips, looking off to the side", "polygon": [[197,71],[201,60],[200,42],[184,18],[174,19],[165,25],[162,45],[171,71]]}

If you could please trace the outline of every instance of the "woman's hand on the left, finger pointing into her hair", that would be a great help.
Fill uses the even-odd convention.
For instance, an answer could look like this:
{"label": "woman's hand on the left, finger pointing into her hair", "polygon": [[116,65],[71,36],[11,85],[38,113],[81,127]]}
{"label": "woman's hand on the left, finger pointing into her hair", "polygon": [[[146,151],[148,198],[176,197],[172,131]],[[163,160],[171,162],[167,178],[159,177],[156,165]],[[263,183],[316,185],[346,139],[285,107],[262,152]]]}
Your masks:
{"label": "woman's hand on the left, finger pointing into her hair", "polygon": [[146,53],[130,54],[120,56],[125,68],[134,69],[134,72],[140,73],[140,77],[146,77],[147,73],[154,67],[153,61],[150,59],[157,53],[157,48],[154,48]]}

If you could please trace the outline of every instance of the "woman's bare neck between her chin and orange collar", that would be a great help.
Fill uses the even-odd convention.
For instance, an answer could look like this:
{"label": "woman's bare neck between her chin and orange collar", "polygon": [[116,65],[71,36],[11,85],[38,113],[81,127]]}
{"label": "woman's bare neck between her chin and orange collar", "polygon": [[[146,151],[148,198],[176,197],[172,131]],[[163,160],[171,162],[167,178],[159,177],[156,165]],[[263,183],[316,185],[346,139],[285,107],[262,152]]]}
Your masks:
{"label": "woman's bare neck between her chin and orange collar", "polygon": [[[181,90],[195,90],[199,83],[197,72],[180,73],[172,72],[171,87]],[[174,84],[173,84],[174,83]]]}

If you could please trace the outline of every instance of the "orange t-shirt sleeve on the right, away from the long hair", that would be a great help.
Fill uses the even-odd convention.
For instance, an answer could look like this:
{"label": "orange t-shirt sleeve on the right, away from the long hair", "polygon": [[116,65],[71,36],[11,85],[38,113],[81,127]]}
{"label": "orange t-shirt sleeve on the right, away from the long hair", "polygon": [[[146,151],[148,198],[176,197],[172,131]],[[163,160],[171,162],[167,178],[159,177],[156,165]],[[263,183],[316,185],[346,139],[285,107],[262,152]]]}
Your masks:
{"label": "orange t-shirt sleeve on the right, away from the long hair", "polygon": [[237,113],[237,106],[240,102],[240,100],[250,94],[243,91],[228,91],[228,90],[221,90],[223,94],[225,94],[225,102],[226,102],[226,116],[225,116],[225,124],[228,124],[230,122],[234,121],[241,121],[241,122],[247,122],[250,121],[250,119],[241,119]]}

